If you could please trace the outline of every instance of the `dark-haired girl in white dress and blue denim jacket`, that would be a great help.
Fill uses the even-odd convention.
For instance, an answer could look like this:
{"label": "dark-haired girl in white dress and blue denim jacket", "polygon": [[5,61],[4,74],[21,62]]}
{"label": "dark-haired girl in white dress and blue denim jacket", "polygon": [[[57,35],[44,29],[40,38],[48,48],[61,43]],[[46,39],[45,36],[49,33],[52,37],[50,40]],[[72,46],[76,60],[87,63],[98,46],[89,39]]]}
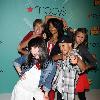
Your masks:
{"label": "dark-haired girl in white dress and blue denim jacket", "polygon": [[[44,73],[44,62],[47,61],[48,57],[44,40],[40,37],[33,38],[28,43],[28,50],[28,55],[21,56],[14,61],[20,80],[13,89],[11,100],[33,100],[33,98],[35,100],[48,100],[48,91],[51,87],[43,84],[45,85],[44,92],[39,88],[40,75]],[[53,71],[50,70],[49,73],[51,72]],[[47,76],[43,76],[44,79]]]}

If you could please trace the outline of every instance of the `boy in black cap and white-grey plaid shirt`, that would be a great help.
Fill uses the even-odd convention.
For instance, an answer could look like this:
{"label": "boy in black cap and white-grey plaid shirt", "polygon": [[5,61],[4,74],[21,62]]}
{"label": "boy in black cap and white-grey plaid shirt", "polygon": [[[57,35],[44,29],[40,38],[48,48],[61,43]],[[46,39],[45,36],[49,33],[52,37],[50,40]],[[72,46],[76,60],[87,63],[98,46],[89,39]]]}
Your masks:
{"label": "boy in black cap and white-grey plaid shirt", "polygon": [[[74,89],[79,74],[85,70],[85,64],[81,61],[75,49],[72,49],[72,41],[69,37],[61,38],[59,42],[62,52],[62,60],[57,61],[57,71],[53,80],[53,89],[57,89],[57,100],[74,100]],[[59,96],[59,97],[58,97]]]}

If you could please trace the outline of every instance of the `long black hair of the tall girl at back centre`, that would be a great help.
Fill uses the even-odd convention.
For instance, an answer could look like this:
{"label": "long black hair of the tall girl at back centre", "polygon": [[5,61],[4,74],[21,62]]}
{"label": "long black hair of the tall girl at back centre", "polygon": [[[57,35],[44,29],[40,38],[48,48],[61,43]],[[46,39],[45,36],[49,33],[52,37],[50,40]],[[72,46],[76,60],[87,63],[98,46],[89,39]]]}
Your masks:
{"label": "long black hair of the tall girl at back centre", "polygon": [[57,29],[58,31],[58,40],[60,37],[63,36],[64,34],[64,30],[63,30],[63,22],[57,18],[50,18],[46,25],[45,25],[45,30],[44,32],[46,33],[47,35],[47,40],[49,40],[51,37],[52,37],[52,33],[49,31],[49,25],[50,23],[53,24],[53,26]]}

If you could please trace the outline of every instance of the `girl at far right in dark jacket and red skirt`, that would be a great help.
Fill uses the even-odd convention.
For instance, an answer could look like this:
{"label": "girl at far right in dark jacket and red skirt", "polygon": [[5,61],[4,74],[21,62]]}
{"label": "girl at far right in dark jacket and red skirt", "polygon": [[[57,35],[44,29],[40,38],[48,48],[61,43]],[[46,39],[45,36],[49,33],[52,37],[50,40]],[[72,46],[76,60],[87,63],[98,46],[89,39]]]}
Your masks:
{"label": "girl at far right in dark jacket and red skirt", "polygon": [[[88,51],[88,34],[86,28],[78,28],[74,34],[73,47],[78,50],[79,54],[82,56],[83,61],[88,63],[87,69],[96,68],[96,59]],[[85,91],[89,90],[89,82],[87,74],[83,73],[79,76],[76,92],[80,100],[86,100]]]}

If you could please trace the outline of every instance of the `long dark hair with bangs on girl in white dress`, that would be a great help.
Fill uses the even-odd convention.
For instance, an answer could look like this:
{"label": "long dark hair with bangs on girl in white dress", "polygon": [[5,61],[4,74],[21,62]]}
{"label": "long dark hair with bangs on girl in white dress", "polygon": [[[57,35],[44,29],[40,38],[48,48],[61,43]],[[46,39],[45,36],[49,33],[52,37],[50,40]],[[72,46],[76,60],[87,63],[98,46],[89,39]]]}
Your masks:
{"label": "long dark hair with bangs on girl in white dress", "polygon": [[34,61],[34,57],[30,52],[31,47],[39,48],[39,63],[40,63],[41,68],[43,68],[43,64],[46,61],[46,59],[48,58],[48,52],[47,52],[47,47],[46,47],[45,41],[41,37],[36,37],[29,41],[29,43],[28,43],[29,55],[28,55],[28,61],[27,61],[29,66]]}

